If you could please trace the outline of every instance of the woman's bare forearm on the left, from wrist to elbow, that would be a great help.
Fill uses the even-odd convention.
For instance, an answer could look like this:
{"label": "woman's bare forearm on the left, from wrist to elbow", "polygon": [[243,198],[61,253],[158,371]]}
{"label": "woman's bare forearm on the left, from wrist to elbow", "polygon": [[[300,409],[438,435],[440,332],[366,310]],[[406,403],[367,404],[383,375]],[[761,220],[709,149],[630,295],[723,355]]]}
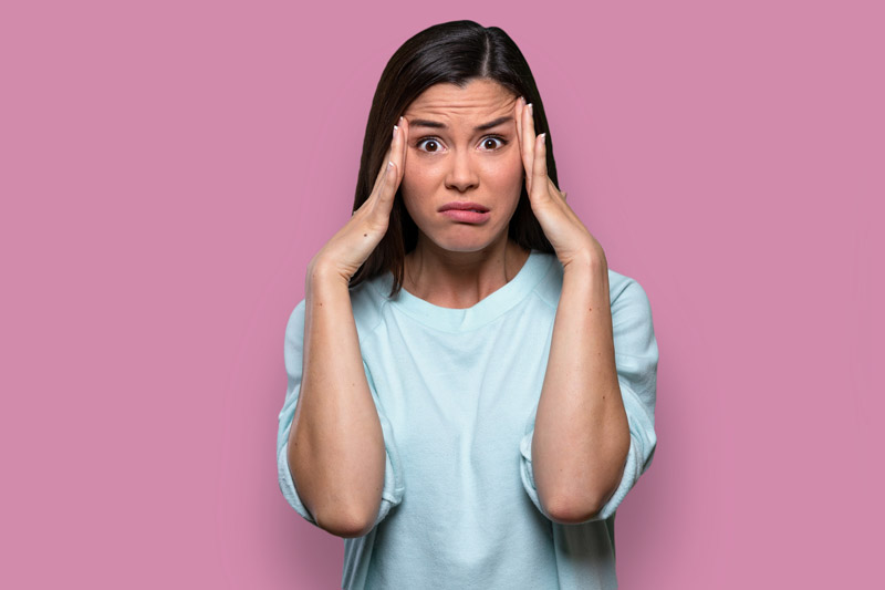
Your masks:
{"label": "woman's bare forearm on the left, from wrist to elbow", "polygon": [[354,536],[381,506],[384,436],[363,370],[347,282],[313,263],[305,281],[303,354],[290,468],[317,525]]}

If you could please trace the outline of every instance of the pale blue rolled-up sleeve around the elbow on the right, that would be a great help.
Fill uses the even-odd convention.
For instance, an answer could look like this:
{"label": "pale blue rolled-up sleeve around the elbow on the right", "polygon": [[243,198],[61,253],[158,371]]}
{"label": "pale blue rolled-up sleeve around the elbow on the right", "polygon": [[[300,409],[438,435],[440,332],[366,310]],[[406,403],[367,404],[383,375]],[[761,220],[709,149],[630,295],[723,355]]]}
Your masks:
{"label": "pale blue rolled-up sleeve around the elbow on the right", "polygon": [[[652,464],[657,446],[655,402],[658,350],[652,322],[652,307],[642,286],[628,279],[626,287],[612,301],[612,330],[615,364],[621,396],[629,423],[629,451],[621,484],[596,515],[587,519],[603,520],[615,514],[639,476]],[[534,417],[527,425],[520,442],[520,476],[532,503],[544,516],[532,473],[532,437]]]}

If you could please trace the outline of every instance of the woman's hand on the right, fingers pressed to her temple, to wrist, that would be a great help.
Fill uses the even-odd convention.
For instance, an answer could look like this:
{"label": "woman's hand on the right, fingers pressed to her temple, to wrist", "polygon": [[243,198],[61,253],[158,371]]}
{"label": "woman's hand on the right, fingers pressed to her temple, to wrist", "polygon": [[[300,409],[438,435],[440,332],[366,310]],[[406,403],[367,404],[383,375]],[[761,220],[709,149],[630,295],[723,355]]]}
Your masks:
{"label": "woman's hand on the right, fingers pressed to her temple, to wrist", "polygon": [[602,246],[565,204],[565,193],[560,192],[546,175],[546,134],[534,135],[534,117],[522,97],[517,100],[516,111],[525,190],[532,211],[556,257],[563,268],[572,262],[607,267]]}

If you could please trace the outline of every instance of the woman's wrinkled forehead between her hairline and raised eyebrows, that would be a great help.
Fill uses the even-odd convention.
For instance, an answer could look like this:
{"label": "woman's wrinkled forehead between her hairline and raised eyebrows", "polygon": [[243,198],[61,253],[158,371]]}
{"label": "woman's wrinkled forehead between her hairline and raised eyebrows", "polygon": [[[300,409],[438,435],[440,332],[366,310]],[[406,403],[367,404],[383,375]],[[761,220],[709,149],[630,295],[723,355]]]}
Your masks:
{"label": "woman's wrinkled forehead between her hairline and raised eyebrows", "polygon": [[490,80],[472,80],[465,87],[434,84],[406,108],[406,116],[434,118],[440,122],[490,120],[512,115],[517,96]]}

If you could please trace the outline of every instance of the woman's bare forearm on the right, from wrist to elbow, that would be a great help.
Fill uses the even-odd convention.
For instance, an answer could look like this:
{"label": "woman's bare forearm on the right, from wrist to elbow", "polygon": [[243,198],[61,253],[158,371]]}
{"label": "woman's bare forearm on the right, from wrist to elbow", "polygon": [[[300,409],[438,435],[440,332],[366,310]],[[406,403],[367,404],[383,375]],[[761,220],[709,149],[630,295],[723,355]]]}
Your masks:
{"label": "woman's bare forearm on the right, from wrist to elbow", "polygon": [[548,513],[563,521],[590,518],[617,488],[628,451],[602,255],[564,269],[532,439]]}

